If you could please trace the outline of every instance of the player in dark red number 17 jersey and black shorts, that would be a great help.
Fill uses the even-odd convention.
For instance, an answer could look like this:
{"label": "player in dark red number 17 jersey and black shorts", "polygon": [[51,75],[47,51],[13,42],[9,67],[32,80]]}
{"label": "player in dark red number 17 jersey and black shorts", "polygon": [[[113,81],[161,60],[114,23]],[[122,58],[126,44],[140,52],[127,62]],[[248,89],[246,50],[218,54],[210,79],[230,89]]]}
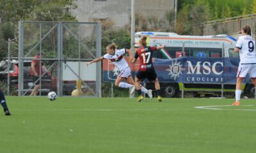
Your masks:
{"label": "player in dark red number 17 jersey and black shorts", "polygon": [[138,102],[143,100],[143,96],[141,94],[141,86],[140,86],[140,81],[143,81],[145,78],[147,78],[150,82],[155,83],[155,88],[157,91],[157,99],[158,101],[162,101],[162,96],[161,96],[161,90],[160,90],[160,85],[158,82],[158,78],[156,75],[156,71],[153,66],[152,62],[152,52],[155,50],[160,50],[163,49],[165,45],[161,45],[159,47],[150,47],[147,46],[147,36],[143,36],[140,41],[139,41],[140,47],[136,49],[136,54],[134,55],[134,59],[132,62],[136,62],[138,57],[140,58],[140,69],[136,74],[135,77],[135,85],[136,89],[139,94]]}

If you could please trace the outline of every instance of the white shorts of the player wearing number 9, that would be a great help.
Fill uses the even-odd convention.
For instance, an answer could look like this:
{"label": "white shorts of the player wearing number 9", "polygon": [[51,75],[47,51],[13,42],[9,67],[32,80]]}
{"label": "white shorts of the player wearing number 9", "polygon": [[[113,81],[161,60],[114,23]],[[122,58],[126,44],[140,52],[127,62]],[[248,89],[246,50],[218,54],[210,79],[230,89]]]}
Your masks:
{"label": "white shorts of the player wearing number 9", "polygon": [[239,64],[237,78],[245,78],[249,74],[251,78],[256,78],[256,64]]}

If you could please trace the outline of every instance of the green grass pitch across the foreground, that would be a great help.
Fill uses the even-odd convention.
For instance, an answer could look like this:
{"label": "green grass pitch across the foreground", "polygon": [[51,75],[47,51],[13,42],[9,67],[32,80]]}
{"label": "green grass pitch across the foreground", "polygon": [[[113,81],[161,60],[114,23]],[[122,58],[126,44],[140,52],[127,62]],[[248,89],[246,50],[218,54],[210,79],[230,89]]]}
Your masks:
{"label": "green grass pitch across the foreground", "polygon": [[[255,152],[256,101],[7,97],[0,152]],[[243,106],[252,105],[252,106]],[[253,106],[255,105],[255,106]],[[239,110],[236,110],[239,109]],[[244,109],[250,109],[248,111]]]}

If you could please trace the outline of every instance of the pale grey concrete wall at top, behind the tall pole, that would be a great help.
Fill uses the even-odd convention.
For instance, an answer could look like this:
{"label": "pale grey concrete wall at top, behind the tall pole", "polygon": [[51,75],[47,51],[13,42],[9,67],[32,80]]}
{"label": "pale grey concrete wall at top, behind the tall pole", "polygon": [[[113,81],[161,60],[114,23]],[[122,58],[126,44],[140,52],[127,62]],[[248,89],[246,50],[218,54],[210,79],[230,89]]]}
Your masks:
{"label": "pale grey concrete wall at top, behind the tall pole", "polygon": [[[111,18],[116,27],[130,24],[131,0],[77,0],[78,8],[72,14],[79,22],[93,22],[100,18]],[[174,0],[136,0],[136,12],[145,17],[162,18],[164,12],[174,9]]]}

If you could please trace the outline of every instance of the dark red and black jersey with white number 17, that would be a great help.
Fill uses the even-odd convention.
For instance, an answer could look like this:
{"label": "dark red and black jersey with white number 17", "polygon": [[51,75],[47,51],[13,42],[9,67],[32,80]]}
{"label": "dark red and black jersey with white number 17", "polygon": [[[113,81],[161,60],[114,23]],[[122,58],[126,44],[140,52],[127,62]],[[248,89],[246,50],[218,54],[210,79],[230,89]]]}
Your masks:
{"label": "dark red and black jersey with white number 17", "polygon": [[146,71],[147,69],[154,68],[152,62],[152,52],[156,50],[156,47],[140,47],[136,50],[136,54],[134,55],[135,59],[140,57],[140,71]]}

